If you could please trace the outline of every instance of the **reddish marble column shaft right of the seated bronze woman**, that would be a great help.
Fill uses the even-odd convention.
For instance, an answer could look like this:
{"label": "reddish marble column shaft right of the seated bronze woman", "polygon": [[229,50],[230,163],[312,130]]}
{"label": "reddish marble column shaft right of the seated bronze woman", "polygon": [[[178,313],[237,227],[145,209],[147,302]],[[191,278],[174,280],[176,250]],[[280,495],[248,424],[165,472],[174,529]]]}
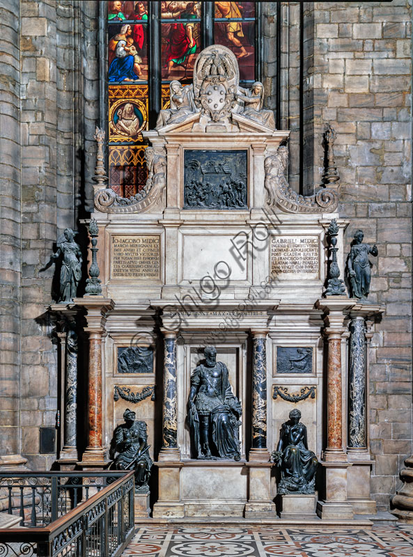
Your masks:
{"label": "reddish marble column shaft right of the seated bronze woman", "polygon": [[327,356],[327,453],[343,452],[341,333],[326,329]]}

